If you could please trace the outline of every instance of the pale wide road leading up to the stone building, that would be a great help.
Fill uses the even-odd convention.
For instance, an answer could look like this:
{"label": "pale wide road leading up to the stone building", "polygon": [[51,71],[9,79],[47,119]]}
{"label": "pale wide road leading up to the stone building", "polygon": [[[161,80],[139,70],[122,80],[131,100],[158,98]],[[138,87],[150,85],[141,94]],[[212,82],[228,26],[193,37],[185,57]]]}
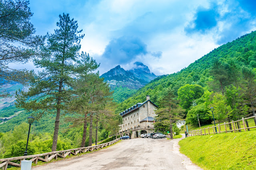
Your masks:
{"label": "pale wide road leading up to the stone building", "polygon": [[32,170],[200,170],[179,152],[179,140],[181,139],[121,140],[108,148],[36,166]]}

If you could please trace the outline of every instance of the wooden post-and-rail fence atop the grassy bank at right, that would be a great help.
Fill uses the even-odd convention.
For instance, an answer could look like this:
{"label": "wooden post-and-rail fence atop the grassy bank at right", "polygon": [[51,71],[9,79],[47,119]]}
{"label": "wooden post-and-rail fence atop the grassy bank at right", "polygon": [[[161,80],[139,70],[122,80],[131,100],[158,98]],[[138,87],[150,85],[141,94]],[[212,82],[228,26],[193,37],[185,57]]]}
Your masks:
{"label": "wooden post-and-rail fence atop the grassy bank at right", "polygon": [[[248,125],[246,125],[246,123],[245,123],[245,120],[252,119],[252,118],[255,119],[256,118],[256,114],[254,116],[252,116],[252,117],[247,117],[247,118],[243,118],[242,117],[241,120],[232,121],[230,123],[225,123],[224,122],[221,125],[218,124],[216,126],[212,126],[212,127],[208,127],[208,128],[203,128],[203,129],[201,128],[201,129],[198,129],[198,130],[189,130],[188,136],[206,135],[206,134],[217,134],[217,133],[223,133],[223,132],[225,132],[225,133],[228,133],[228,132],[239,132],[239,131],[242,131],[242,130],[246,131],[246,130],[248,130],[250,128],[256,128],[256,126],[248,127]],[[236,128],[236,124],[238,124],[238,123],[240,124],[240,121],[242,121],[243,127],[242,128],[241,127],[240,128]],[[229,125],[229,124],[231,124],[232,130],[227,130],[226,125]],[[224,128],[222,126],[224,126]],[[210,132],[210,129],[212,129],[213,132]]]}

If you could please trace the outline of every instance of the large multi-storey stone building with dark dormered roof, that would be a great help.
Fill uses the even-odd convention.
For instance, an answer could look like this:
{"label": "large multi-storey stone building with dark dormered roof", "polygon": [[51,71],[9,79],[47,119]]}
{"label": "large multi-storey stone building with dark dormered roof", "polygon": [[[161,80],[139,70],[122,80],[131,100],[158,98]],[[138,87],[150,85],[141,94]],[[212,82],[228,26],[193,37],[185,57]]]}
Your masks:
{"label": "large multi-storey stone building with dark dormered roof", "polygon": [[120,125],[119,134],[121,136],[128,135],[130,138],[138,138],[140,134],[152,133],[154,131],[155,110],[157,109],[149,95],[143,103],[137,103],[133,107],[119,113],[123,119]]}

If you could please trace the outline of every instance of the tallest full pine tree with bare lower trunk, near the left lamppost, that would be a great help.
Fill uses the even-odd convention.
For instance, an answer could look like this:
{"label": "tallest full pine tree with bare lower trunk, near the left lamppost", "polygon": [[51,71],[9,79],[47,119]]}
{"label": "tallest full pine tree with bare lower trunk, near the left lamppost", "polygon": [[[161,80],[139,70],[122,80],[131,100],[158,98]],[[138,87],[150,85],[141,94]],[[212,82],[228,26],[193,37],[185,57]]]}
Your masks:
{"label": "tallest full pine tree with bare lower trunk, near the left lamppost", "polygon": [[37,118],[44,113],[56,113],[52,151],[57,146],[60,113],[67,110],[73,96],[72,81],[99,67],[86,53],[79,55],[84,35],[79,34],[82,30],[77,30],[77,21],[69,14],[59,17],[58,29],[54,34],[47,34],[47,45],[40,47],[41,54],[34,59],[34,65],[44,70],[32,80],[28,92],[16,95],[16,105],[34,111]]}

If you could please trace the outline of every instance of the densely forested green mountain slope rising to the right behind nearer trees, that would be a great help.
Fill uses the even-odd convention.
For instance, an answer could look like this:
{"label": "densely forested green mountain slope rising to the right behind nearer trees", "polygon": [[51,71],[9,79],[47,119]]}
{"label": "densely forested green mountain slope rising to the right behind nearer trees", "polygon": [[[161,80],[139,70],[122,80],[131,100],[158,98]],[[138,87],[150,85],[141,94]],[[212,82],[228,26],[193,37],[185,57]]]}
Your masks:
{"label": "densely forested green mountain slope rising to the right behind nearer trees", "polygon": [[119,104],[116,113],[133,106],[135,103],[143,102],[146,95],[150,95],[151,101],[158,104],[157,99],[161,97],[161,92],[167,87],[172,87],[177,93],[179,87],[185,84],[198,84],[206,87],[207,82],[212,79],[209,69],[214,59],[221,62],[233,60],[238,65],[246,65],[251,68],[256,67],[256,32],[246,34],[232,42],[228,42],[217,49],[210,51],[200,59],[191,63],[188,67],[181,69],[177,73],[163,75],[149,82],[139,89],[132,97]]}

